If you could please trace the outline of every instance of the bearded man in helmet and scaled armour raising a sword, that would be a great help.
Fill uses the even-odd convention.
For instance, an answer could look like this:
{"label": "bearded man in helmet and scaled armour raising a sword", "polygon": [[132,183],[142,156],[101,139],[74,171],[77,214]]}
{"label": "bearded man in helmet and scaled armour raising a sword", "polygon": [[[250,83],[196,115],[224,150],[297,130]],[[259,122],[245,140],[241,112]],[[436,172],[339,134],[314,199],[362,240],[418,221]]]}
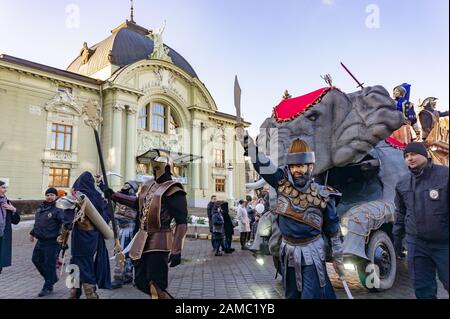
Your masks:
{"label": "bearded man in helmet and scaled armour raising a sword", "polygon": [[[251,156],[255,170],[277,192],[276,222],[281,231],[281,273],[288,299],[335,299],[325,264],[323,234],[328,237],[333,265],[344,276],[342,242],[335,200],[341,194],[319,185],[311,177],[314,152],[303,140],[292,142],[287,165],[276,168],[248,134],[237,128],[238,138]],[[273,236],[273,235],[272,235]]]}

